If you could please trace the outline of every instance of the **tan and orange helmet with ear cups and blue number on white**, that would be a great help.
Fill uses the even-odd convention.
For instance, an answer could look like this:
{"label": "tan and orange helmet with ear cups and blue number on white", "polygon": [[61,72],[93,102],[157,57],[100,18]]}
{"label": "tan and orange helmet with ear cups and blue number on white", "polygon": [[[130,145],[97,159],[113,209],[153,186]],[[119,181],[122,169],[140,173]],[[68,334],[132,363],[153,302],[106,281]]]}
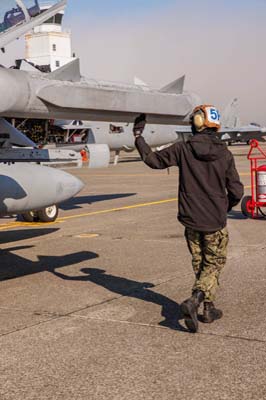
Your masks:
{"label": "tan and orange helmet with ear cups and blue number on white", "polygon": [[217,132],[221,127],[219,111],[212,105],[197,106],[190,116],[190,123],[196,132],[208,128]]}

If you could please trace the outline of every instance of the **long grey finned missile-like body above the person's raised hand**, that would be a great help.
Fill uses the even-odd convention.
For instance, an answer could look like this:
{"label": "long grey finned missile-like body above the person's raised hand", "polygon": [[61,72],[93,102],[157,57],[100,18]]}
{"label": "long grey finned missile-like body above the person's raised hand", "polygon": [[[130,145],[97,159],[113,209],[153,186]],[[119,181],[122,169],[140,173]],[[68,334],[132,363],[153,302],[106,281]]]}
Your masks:
{"label": "long grey finned missile-like body above the person's raised hand", "polygon": [[186,124],[200,100],[139,85],[81,78],[79,60],[50,74],[0,68],[0,116],[132,122],[140,113],[152,124]]}

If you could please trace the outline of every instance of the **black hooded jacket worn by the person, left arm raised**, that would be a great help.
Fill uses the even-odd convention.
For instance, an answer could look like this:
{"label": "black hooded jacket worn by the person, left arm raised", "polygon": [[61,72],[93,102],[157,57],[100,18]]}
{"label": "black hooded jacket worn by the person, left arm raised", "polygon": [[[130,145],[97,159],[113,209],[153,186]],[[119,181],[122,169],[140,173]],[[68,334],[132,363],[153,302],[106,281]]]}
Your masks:
{"label": "black hooded jacket worn by the person, left arm raised", "polygon": [[232,153],[212,132],[193,136],[186,143],[153,152],[142,136],[136,147],[149,167],[179,167],[178,219],[186,227],[215,232],[226,226],[227,212],[243,196]]}

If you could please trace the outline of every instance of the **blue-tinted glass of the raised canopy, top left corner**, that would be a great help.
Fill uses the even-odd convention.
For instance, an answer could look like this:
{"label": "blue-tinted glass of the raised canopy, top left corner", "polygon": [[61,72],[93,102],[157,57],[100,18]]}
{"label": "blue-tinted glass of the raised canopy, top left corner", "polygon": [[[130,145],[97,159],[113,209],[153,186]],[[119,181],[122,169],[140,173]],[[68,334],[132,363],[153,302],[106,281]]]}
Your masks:
{"label": "blue-tinted glass of the raised canopy, top left corner", "polygon": [[40,14],[38,0],[1,0],[0,33],[38,14]]}

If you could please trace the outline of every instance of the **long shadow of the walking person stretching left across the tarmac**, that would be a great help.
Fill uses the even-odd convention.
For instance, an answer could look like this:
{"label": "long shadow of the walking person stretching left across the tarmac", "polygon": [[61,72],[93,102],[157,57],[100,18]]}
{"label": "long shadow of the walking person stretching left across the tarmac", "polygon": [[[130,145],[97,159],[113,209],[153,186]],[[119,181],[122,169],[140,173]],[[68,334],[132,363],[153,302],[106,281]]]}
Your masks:
{"label": "long shadow of the walking person stretching left across the tarmac", "polygon": [[67,276],[58,271],[53,271],[53,274],[69,281],[93,282],[121,296],[158,304],[162,307],[161,315],[165,318],[159,325],[187,332],[179,323],[179,320],[183,318],[179,304],[160,293],[150,290],[150,288],[154,287],[152,283],[137,282],[106,274],[104,270],[97,268],[82,268],[80,271],[83,272],[83,276]]}

